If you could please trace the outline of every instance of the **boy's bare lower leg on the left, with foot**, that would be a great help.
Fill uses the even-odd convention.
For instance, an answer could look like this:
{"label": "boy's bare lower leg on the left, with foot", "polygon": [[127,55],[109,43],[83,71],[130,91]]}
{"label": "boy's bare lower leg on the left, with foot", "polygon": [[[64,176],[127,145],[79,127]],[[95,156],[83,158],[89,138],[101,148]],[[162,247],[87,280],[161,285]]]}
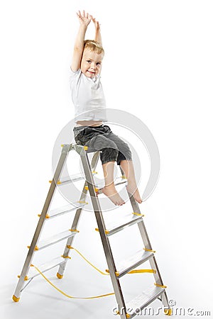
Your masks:
{"label": "boy's bare lower leg on the left, with foot", "polygon": [[102,164],[105,180],[105,186],[102,189],[102,192],[104,193],[104,195],[108,196],[115,205],[120,206],[123,205],[125,202],[116,191],[116,188],[114,186],[114,163],[115,162],[107,162]]}

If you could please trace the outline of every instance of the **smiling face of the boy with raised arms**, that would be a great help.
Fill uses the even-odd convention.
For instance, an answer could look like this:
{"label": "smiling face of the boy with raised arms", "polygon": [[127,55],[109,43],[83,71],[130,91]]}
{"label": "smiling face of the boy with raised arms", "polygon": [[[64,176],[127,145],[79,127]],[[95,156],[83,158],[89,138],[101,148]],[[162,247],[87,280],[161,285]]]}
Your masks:
{"label": "smiling face of the boy with raised arms", "polygon": [[104,54],[98,54],[95,51],[84,50],[81,62],[81,71],[86,76],[92,79],[101,72],[102,60]]}

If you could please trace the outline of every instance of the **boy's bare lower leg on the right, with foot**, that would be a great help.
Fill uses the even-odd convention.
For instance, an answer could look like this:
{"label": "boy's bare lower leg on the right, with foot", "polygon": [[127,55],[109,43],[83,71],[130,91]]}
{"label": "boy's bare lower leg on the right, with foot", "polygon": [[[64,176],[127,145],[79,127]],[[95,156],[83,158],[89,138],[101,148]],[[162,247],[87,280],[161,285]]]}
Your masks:
{"label": "boy's bare lower leg on the right, with foot", "polygon": [[133,198],[135,198],[138,203],[142,203],[141,196],[136,184],[136,176],[132,160],[121,160],[120,165],[128,181],[128,185],[126,186],[127,191],[129,191],[129,193],[133,195]]}

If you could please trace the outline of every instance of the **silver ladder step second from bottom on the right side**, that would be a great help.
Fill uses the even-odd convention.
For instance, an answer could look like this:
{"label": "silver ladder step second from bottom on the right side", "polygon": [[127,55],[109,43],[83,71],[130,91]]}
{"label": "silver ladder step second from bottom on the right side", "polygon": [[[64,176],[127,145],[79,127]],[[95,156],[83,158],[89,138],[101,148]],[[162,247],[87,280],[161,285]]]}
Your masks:
{"label": "silver ladder step second from bottom on the right side", "polygon": [[145,252],[144,250],[138,250],[135,254],[133,254],[129,259],[125,259],[124,261],[118,263],[116,265],[118,278],[121,278],[132,269],[138,267],[143,262],[146,262],[148,259],[151,259],[154,256],[153,252]]}

